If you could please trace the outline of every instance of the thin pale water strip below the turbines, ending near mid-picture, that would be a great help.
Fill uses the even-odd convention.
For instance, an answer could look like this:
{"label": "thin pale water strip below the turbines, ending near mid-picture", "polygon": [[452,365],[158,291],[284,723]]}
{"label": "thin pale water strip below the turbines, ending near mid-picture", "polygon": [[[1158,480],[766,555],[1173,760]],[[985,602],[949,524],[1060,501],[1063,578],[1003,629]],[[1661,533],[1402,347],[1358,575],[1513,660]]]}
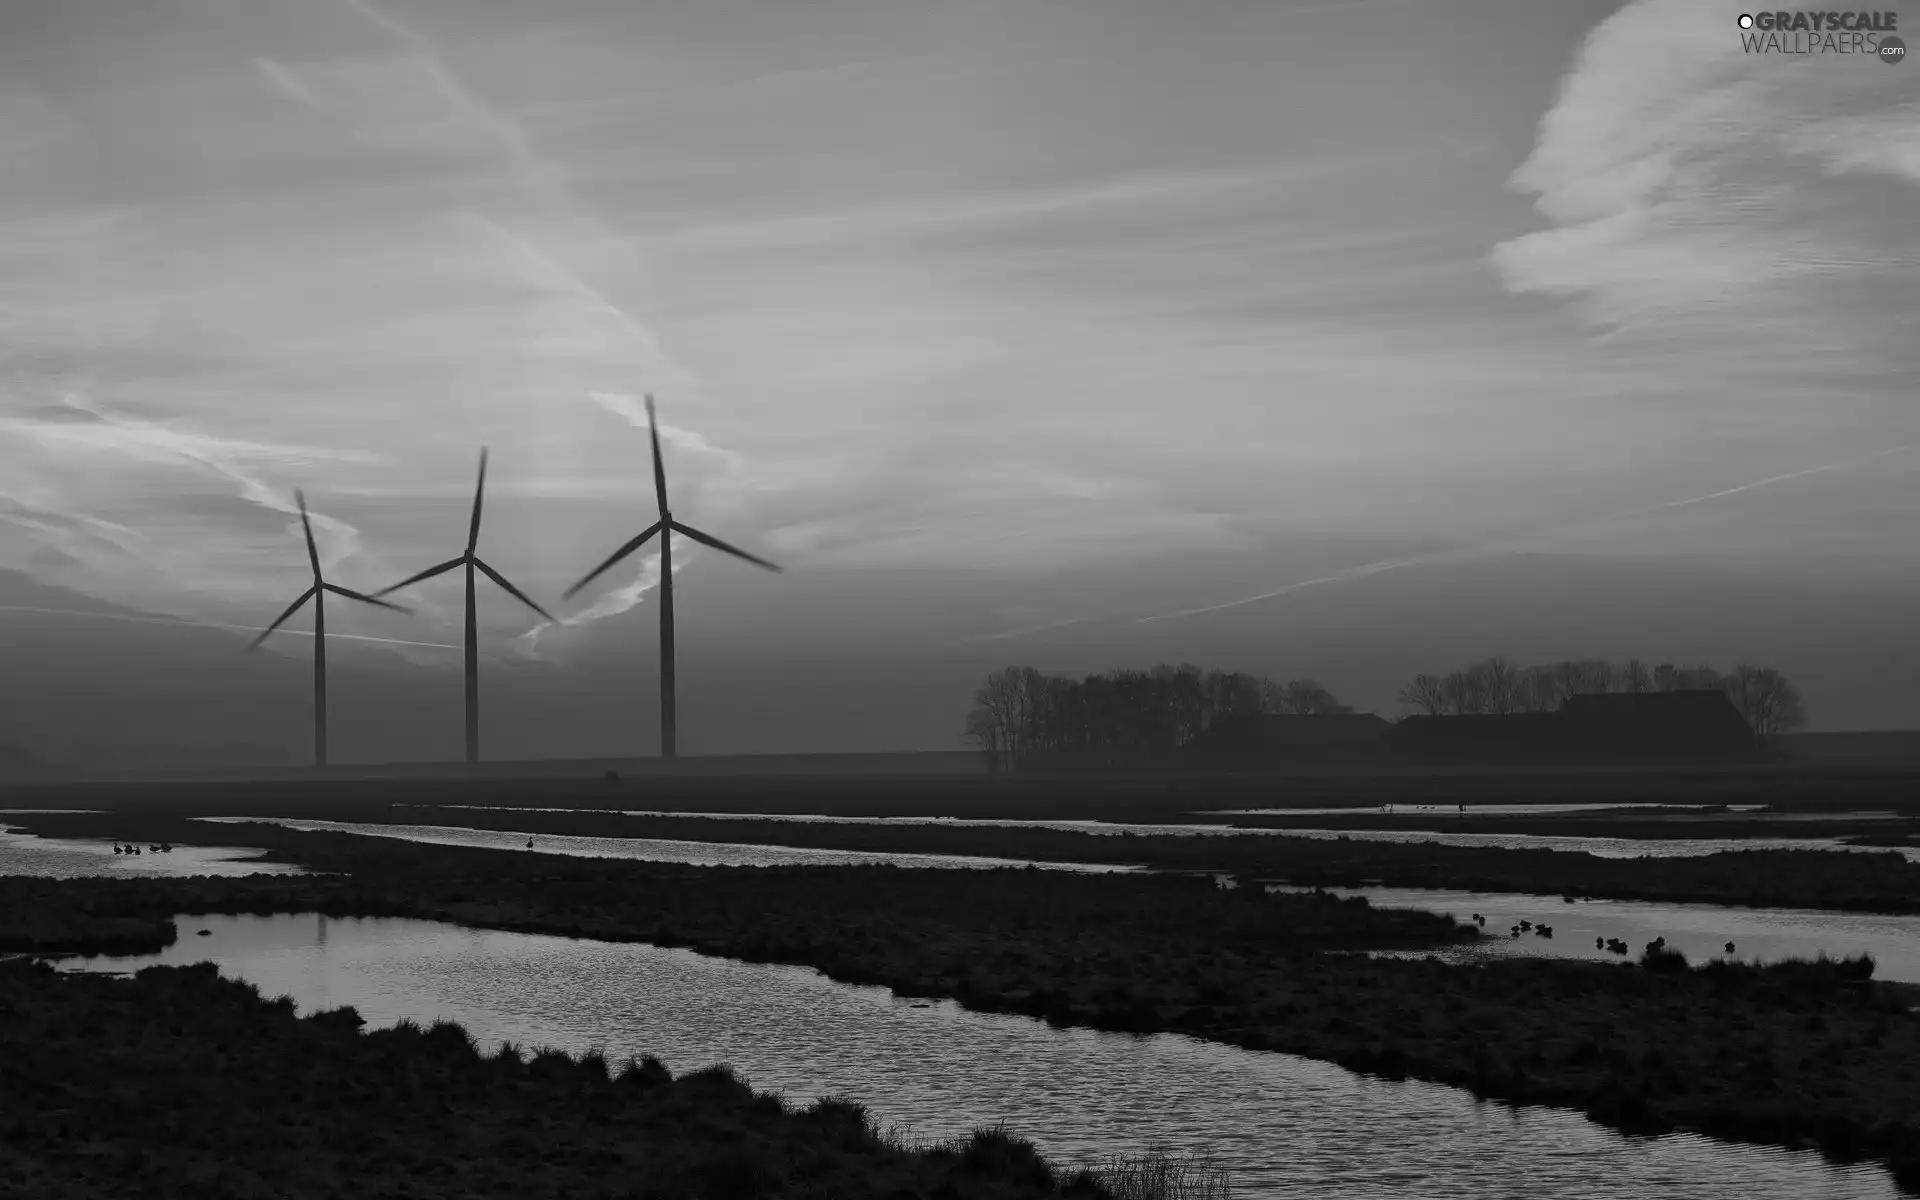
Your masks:
{"label": "thin pale water strip below the turbines, ending near mid-picture", "polygon": [[[528,835],[505,829],[465,829],[459,826],[380,826],[323,822],[286,816],[200,816],[204,822],[265,822],[288,829],[361,833],[396,837],[438,847],[480,847],[488,851],[526,851]],[[806,847],[762,847],[726,841],[666,841],[657,837],[570,837],[534,833],[538,854],[574,858],[637,858],[643,862],[685,862],[689,866],[925,866],[991,870],[998,866],[1039,866],[1058,872],[1133,872],[1137,866],[1112,862],[1027,862],[1025,858],[985,858],[972,854],[889,854],[881,851],[814,851]]]}

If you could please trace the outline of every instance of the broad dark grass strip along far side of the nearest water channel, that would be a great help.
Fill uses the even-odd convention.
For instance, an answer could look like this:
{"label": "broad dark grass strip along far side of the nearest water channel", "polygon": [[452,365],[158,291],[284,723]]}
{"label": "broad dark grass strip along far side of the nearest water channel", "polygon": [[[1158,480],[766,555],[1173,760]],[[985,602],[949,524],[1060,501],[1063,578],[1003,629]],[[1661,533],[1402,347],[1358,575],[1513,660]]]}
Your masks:
{"label": "broad dark grass strip along far side of the nearest water channel", "polygon": [[687,868],[271,835],[278,856],[348,874],[0,879],[0,950],[52,948],[52,927],[84,950],[92,922],[123,945],[129,920],[173,912],[411,916],[647,941],[981,1012],[1284,1050],[1574,1108],[1632,1133],[1818,1146],[1885,1162],[1920,1194],[1920,1020],[1864,962],[1455,966],[1329,952],[1473,937],[1436,914],[1204,877]]}

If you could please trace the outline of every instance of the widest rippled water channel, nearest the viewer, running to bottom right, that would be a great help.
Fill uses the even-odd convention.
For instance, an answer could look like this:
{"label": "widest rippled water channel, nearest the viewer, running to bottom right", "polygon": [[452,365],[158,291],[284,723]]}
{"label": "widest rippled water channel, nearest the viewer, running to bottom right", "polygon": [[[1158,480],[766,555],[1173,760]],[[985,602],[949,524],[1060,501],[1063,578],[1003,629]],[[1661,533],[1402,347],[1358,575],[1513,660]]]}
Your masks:
{"label": "widest rippled water channel, nearest the viewer, running to bottom right", "polygon": [[[449,1018],[499,1041],[732,1064],[756,1089],[852,1096],[922,1137],[1006,1121],[1064,1164],[1152,1144],[1210,1152],[1236,1196],[1286,1200],[1893,1200],[1874,1165],[1697,1135],[1626,1139],[1569,1112],[1511,1110],[1417,1081],[1179,1035],[1054,1029],[916,1006],[879,987],[689,950],[413,920],[182,916],[131,970],[211,960],[301,1014],[374,1025]],[[196,937],[209,929],[209,937]]]}

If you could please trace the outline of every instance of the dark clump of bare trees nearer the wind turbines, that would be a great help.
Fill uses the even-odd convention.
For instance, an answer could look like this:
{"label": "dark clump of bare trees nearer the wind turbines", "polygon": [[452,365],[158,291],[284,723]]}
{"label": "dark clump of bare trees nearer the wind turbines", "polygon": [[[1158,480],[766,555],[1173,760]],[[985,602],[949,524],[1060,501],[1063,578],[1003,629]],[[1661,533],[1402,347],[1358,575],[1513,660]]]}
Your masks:
{"label": "dark clump of bare trees nearer the wind turbines", "polygon": [[1008,666],[973,693],[966,737],[991,770],[1127,766],[1167,756],[1227,716],[1352,712],[1313,680],[1162,662],[1085,680]]}

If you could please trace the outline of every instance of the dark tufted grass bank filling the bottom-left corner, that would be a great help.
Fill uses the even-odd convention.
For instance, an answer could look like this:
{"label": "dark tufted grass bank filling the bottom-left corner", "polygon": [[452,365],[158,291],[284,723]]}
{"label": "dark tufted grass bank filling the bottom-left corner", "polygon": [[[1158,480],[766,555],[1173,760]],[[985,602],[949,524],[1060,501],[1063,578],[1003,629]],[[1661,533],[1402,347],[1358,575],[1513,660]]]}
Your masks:
{"label": "dark tufted grass bank filling the bottom-left corner", "polygon": [[1004,1133],[906,1150],[862,1108],[789,1108],[726,1068],[674,1079],[459,1025],[298,1020],[209,966],[132,979],[0,966],[0,1192],[108,1196],[1110,1196]]}

